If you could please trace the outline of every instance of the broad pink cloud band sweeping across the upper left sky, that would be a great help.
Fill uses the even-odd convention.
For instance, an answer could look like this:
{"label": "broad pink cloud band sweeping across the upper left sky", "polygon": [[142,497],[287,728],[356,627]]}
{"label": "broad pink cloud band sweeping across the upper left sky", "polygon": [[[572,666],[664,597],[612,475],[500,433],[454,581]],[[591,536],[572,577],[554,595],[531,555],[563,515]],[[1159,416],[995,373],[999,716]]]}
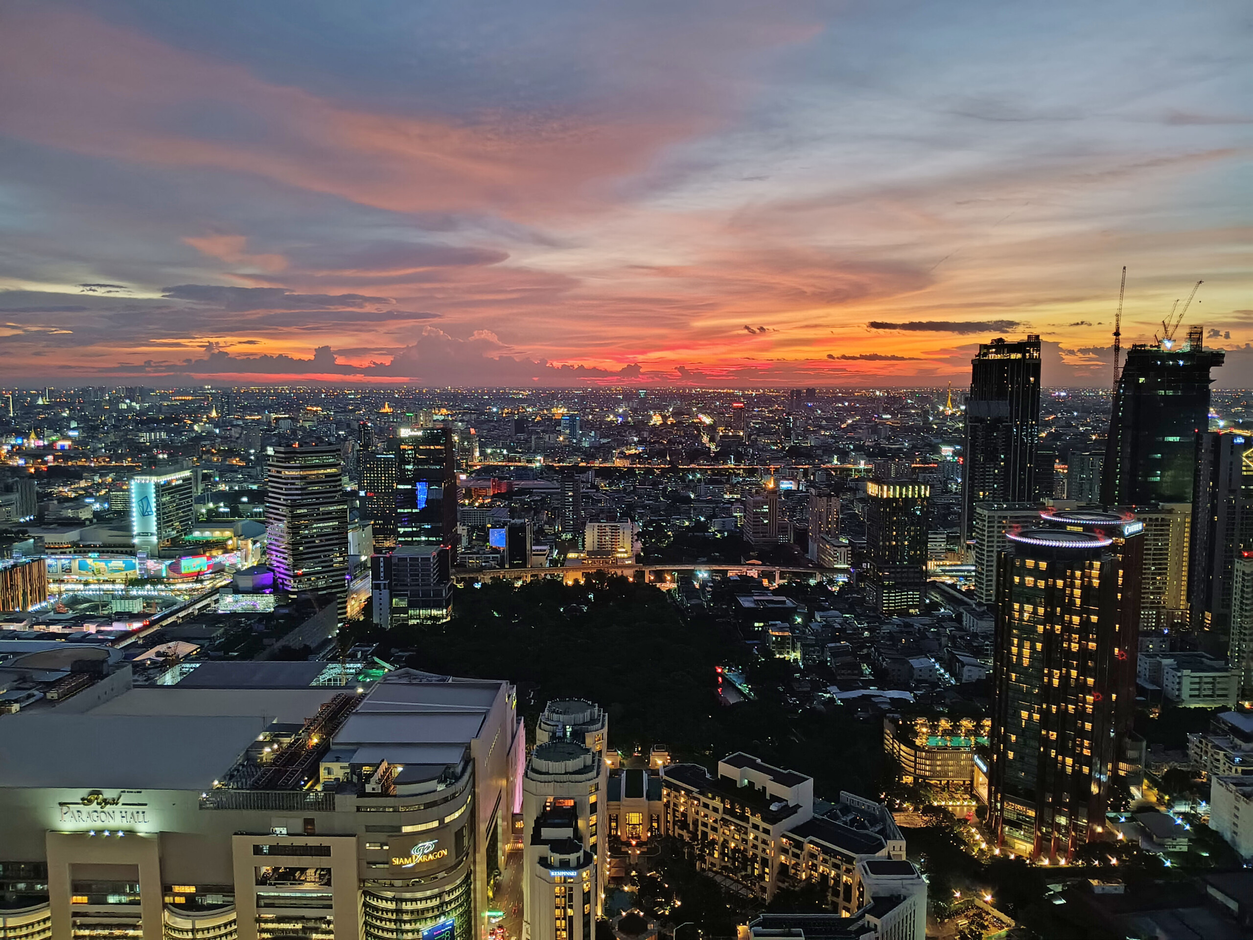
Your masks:
{"label": "broad pink cloud band sweeping across the upper left sky", "polygon": [[[734,24],[719,28],[733,33]],[[806,35],[762,25],[759,35],[724,40],[719,54]],[[707,58],[694,54],[697,64]],[[0,30],[0,128],[80,153],[257,174],[386,209],[526,218],[603,202],[610,180],[715,127],[730,89],[685,68],[684,93],[616,112],[457,122],[355,109],[81,13],[30,5],[6,13]],[[198,113],[236,129],[198,133]]]}

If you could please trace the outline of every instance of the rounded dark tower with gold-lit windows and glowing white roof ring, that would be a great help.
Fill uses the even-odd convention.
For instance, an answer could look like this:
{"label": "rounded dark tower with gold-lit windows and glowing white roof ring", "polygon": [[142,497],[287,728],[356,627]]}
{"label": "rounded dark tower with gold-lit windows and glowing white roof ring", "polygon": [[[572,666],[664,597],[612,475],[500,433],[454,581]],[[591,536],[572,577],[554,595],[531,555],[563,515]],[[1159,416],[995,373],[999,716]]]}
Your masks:
{"label": "rounded dark tower with gold-lit windows and glowing white roof ring", "polygon": [[1129,729],[1141,535],[1115,513],[1046,524],[1000,558],[989,825],[1011,852],[1065,861],[1104,826]]}

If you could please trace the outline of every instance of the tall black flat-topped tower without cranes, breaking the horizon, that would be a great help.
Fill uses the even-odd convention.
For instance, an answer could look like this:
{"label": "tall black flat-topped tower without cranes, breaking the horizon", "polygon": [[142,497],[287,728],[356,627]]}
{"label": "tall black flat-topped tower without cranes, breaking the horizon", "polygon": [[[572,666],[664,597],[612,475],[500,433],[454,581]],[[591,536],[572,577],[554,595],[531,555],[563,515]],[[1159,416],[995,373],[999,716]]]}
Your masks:
{"label": "tall black flat-topped tower without cranes, breaking the horizon", "polygon": [[970,361],[966,445],[962,454],[962,538],[976,503],[1035,501],[1040,439],[1040,337],[980,343]]}

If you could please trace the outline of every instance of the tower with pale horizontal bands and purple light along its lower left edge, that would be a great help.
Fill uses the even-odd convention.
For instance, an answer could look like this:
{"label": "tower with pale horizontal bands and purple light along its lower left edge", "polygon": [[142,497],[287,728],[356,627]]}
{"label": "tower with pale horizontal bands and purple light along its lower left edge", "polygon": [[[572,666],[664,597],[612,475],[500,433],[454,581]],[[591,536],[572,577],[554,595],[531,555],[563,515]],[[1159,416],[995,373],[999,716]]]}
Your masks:
{"label": "tower with pale horizontal bands and purple light along its lower left edge", "polygon": [[342,622],[348,598],[348,501],[338,447],[274,447],[266,466],[266,524],[278,587],[333,595]]}

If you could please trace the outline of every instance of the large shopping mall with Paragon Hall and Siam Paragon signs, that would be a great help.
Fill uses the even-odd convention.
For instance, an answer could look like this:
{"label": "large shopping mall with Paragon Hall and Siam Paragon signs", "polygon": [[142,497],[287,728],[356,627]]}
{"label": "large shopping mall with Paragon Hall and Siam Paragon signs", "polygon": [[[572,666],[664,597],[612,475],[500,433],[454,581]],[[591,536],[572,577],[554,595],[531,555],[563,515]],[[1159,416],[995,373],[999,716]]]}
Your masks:
{"label": "large shopping mall with Paragon Hall and Siam Paragon signs", "polygon": [[53,937],[479,937],[524,741],[507,683],[412,671],[24,709],[0,719],[0,891]]}

